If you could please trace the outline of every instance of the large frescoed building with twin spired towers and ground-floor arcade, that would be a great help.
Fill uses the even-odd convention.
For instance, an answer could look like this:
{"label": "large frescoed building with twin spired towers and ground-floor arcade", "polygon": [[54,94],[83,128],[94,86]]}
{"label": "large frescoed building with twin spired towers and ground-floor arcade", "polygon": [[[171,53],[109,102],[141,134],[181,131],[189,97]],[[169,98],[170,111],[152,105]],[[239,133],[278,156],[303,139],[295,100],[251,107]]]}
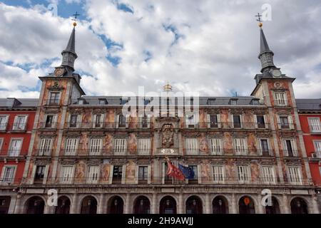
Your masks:
{"label": "large frescoed building with twin spired towers and ground-floor arcade", "polygon": [[[75,33],[40,78],[14,213],[319,213],[295,78],[274,65],[262,28],[253,93],[224,98],[173,96],[169,85],[153,98],[86,96]],[[193,179],[168,177],[166,157]]]}

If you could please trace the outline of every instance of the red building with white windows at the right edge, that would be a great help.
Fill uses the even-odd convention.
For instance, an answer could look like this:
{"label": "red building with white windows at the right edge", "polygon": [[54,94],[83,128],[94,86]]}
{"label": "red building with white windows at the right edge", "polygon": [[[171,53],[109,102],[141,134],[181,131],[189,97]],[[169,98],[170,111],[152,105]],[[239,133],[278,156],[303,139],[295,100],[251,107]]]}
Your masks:
{"label": "red building with white windows at the right edge", "polygon": [[321,99],[297,99],[305,150],[321,205]]}

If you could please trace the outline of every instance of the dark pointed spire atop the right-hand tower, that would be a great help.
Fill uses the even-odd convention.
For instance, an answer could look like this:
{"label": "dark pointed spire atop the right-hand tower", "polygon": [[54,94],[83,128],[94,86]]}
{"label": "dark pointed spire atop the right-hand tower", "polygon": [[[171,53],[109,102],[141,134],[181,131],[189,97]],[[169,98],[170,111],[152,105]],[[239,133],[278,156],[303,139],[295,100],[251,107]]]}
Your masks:
{"label": "dark pointed spire atop the right-hand tower", "polygon": [[262,65],[261,72],[265,73],[270,71],[271,68],[275,68],[275,65],[273,63],[274,53],[270,50],[265,38],[265,34],[262,28],[263,24],[261,21],[262,15],[258,14],[256,16],[258,17],[257,21],[259,21],[258,26],[260,27],[260,54],[258,58],[260,59]]}

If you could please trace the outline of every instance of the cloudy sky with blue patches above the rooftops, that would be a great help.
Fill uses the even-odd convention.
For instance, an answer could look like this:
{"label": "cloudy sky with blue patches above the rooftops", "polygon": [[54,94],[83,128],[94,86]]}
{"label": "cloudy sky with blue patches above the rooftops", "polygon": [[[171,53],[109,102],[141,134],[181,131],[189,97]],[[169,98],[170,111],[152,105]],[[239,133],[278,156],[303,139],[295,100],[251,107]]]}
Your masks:
{"label": "cloudy sky with blue patches above the rooftops", "polygon": [[[265,4],[265,5],[264,5]],[[320,0],[0,0],[0,97],[37,98],[76,27],[75,68],[87,95],[138,86],[250,95],[260,73],[255,14],[297,98],[321,98]],[[57,14],[56,14],[57,13]]]}

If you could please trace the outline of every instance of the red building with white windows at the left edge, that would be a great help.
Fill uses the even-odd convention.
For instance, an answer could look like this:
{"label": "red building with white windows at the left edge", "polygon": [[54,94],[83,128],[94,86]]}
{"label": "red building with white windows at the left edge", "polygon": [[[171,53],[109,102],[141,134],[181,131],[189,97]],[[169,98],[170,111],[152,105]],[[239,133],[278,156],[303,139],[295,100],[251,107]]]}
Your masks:
{"label": "red building with white windows at the left edge", "polygon": [[38,99],[0,99],[0,214],[14,210],[37,103]]}

